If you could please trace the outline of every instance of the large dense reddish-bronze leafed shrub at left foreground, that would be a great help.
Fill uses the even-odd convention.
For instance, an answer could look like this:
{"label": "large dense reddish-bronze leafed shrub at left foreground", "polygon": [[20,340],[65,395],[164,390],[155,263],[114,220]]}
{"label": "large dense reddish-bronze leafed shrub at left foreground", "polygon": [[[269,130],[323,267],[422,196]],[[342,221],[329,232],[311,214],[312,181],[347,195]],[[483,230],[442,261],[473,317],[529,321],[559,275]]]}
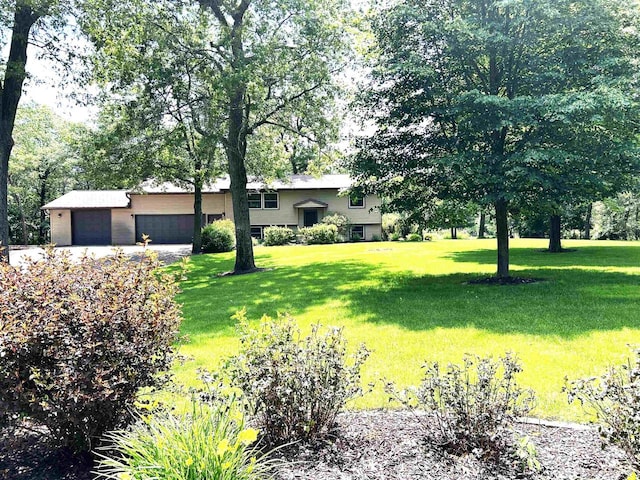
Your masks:
{"label": "large dense reddish-bronze leafed shrub at left foreground", "polygon": [[0,411],[76,450],[121,423],[172,361],[177,286],[159,265],[52,249],[21,270],[0,265]]}

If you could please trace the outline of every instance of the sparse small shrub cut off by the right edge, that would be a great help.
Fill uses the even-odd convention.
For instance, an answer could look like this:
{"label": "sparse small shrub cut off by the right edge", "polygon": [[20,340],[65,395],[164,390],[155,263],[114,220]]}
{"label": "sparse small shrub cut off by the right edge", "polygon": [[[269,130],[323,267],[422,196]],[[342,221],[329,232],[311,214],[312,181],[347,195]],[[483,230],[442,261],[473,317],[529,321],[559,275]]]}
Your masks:
{"label": "sparse small shrub cut off by the right edge", "polygon": [[612,366],[599,377],[573,381],[564,388],[595,414],[603,443],[619,447],[640,471],[640,350],[635,359]]}

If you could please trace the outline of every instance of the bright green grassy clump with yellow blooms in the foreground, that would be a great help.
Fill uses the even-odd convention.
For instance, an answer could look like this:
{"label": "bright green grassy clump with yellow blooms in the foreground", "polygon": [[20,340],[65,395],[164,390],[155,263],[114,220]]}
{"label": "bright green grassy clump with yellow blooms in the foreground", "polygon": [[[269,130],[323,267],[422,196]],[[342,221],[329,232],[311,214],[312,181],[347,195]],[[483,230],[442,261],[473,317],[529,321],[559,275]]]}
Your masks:
{"label": "bright green grassy clump with yellow blooms in the foreground", "polygon": [[251,447],[258,433],[234,403],[194,401],[190,414],[152,414],[127,431],[107,433],[97,471],[113,480],[271,478],[268,460]]}

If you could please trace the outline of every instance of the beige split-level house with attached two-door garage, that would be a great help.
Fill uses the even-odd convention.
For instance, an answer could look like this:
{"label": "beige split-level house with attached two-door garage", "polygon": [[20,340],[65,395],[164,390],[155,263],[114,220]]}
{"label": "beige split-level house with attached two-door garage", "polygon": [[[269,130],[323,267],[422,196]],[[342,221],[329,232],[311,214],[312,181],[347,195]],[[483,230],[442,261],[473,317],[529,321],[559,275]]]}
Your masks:
{"label": "beige split-level house with attached two-door garage", "polygon": [[[380,199],[346,194],[348,175],[293,175],[285,181],[251,182],[251,235],[262,238],[270,225],[314,225],[327,213],[342,213],[352,235],[371,240],[382,232]],[[74,190],[42,207],[49,211],[51,241],[57,245],[132,245],[147,234],[154,244],[191,243],[193,193],[173,184],[143,184],[140,189]],[[204,188],[203,225],[221,218],[233,220],[229,180]]]}

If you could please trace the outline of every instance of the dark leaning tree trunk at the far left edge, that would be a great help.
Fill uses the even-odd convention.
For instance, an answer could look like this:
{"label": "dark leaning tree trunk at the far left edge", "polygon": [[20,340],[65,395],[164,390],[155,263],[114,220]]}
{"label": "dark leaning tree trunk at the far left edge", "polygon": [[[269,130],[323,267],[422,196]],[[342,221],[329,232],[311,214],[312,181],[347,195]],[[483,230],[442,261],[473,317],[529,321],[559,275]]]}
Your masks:
{"label": "dark leaning tree trunk at the far left edge", "polygon": [[0,261],[9,261],[9,210],[7,194],[9,182],[9,157],[13,148],[13,126],[22,95],[22,84],[26,76],[27,45],[31,27],[39,15],[31,7],[15,7],[11,47],[4,73],[4,84],[0,84]]}

